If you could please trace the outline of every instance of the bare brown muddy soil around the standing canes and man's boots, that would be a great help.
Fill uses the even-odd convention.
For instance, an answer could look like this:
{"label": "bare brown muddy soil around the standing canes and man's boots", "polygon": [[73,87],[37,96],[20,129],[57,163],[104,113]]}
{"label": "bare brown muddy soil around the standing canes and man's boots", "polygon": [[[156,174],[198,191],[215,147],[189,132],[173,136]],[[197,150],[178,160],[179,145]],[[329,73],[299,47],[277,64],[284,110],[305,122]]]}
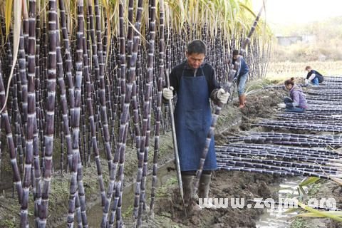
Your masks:
{"label": "bare brown muddy soil around the standing canes and man's boots", "polygon": [[[257,87],[256,89],[258,90]],[[227,135],[238,135],[248,130],[267,130],[259,127],[254,128],[252,124],[257,123],[261,118],[271,118],[272,115],[276,113],[276,104],[281,102],[281,99],[286,95],[286,92],[284,90],[257,90],[255,90],[256,93],[248,95],[246,108],[239,110],[237,108],[237,101],[234,100],[233,105],[227,105],[222,110],[215,135],[217,145],[223,145]],[[153,143],[150,143],[150,145],[153,145]],[[56,143],[56,146],[58,146],[58,143]],[[152,151],[153,147],[150,147],[149,167],[151,167],[152,164]],[[125,185],[127,186],[135,180],[137,170],[136,152],[130,144],[128,144],[125,157]],[[170,132],[167,132],[160,137],[159,165],[169,162],[172,157],[172,137]],[[58,157],[56,159],[58,160]],[[108,182],[108,170],[105,169],[107,165],[104,158],[102,163],[103,177],[105,178],[105,182]],[[4,157],[1,164],[9,164],[9,160],[6,160],[6,157]],[[172,163],[169,166],[172,167]],[[2,165],[1,170],[0,227],[18,227],[20,207],[17,199],[12,197],[11,184],[4,185],[5,182],[11,183],[11,178],[9,178],[11,177],[11,175],[9,175],[11,174],[11,167],[9,167],[9,165]],[[87,206],[88,208],[91,208],[94,204],[99,203],[95,165],[91,165],[84,170],[83,182],[86,189]],[[201,212],[189,214],[185,217],[177,191],[175,171],[172,171],[172,169],[170,170],[170,179],[166,183],[163,183],[162,186],[158,187],[154,210],[155,213],[146,213],[144,215],[143,227],[256,227],[256,221],[259,218],[259,215],[263,213],[262,209],[248,209],[247,207],[244,207],[243,209],[203,209]],[[4,178],[4,176],[6,176],[7,179]],[[58,227],[58,225],[61,226],[61,224],[66,221],[68,212],[68,181],[70,180],[68,177],[68,174],[63,174],[62,177],[57,171],[53,176],[49,202],[48,227]],[[277,194],[276,192],[271,192],[270,186],[281,182],[281,178],[282,177],[249,172],[217,171],[214,172],[212,177],[209,197],[244,197],[247,199],[252,199],[254,197],[273,197],[276,199]],[[332,182],[324,182],[322,180],[322,183],[321,186],[324,187],[315,188],[317,194],[318,192],[320,192],[321,195],[332,193],[337,197],[338,194],[342,192],[341,187]],[[334,185],[335,188],[326,187],[331,185]],[[148,194],[150,194],[150,192]],[[125,197],[133,197],[133,195],[125,195],[123,197],[123,204],[125,204]],[[149,202],[149,200],[147,202]],[[342,202],[342,200],[340,200],[340,202]],[[31,212],[29,216],[32,218],[32,201],[30,202],[29,210]],[[126,207],[125,212],[123,213],[126,227],[133,227],[131,212],[132,207]],[[94,217],[91,217],[91,215],[88,217],[89,219],[95,219]],[[323,228],[321,226],[322,224],[324,224],[325,227],[339,227],[336,222],[333,222],[330,219],[317,219],[319,222],[311,223],[308,221],[314,220],[294,219],[292,228]],[[100,224],[100,222],[98,222],[98,224]]]}

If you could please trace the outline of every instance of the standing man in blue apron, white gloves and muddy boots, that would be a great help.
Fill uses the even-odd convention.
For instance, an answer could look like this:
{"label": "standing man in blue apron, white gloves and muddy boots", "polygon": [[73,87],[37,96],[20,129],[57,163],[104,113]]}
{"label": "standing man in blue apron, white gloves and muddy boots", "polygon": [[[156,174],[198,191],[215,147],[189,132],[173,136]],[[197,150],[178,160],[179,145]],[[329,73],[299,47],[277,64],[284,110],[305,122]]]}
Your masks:
{"label": "standing man in blue apron, white gloves and muddy boots", "polygon": [[[216,103],[227,103],[229,98],[229,93],[226,93],[217,83],[212,66],[203,62],[206,51],[207,47],[203,41],[190,42],[185,53],[187,61],[172,69],[170,88],[162,90],[165,100],[170,100],[177,94],[175,128],[184,199],[185,204],[192,207],[190,209],[199,209],[197,204],[191,202],[194,194],[192,181],[199,167],[199,159],[211,125],[212,112],[209,98]],[[213,137],[199,180],[199,198],[208,197],[212,170],[216,169]]]}

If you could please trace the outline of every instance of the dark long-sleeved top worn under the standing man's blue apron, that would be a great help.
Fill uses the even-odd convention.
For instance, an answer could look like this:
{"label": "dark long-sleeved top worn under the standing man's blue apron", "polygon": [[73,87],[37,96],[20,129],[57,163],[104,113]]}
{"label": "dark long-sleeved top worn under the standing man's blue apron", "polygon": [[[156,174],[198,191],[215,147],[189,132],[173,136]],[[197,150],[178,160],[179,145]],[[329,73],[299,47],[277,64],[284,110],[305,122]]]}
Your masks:
{"label": "dark long-sleeved top worn under the standing man's blue apron", "polygon": [[[183,75],[185,77],[195,77],[195,76],[201,76],[202,70],[204,73],[205,78],[207,79],[208,83],[208,92],[211,95],[212,92],[218,88],[220,88],[219,83],[217,82],[215,78],[215,72],[212,66],[209,65],[209,63],[203,63],[195,72],[194,69],[190,68],[190,66],[187,65],[187,61],[180,63],[179,65],[175,66],[175,68],[172,69],[170,73],[170,86],[174,88],[173,93],[177,93],[177,90],[180,86],[180,78]],[[198,88],[202,89],[202,88]]]}

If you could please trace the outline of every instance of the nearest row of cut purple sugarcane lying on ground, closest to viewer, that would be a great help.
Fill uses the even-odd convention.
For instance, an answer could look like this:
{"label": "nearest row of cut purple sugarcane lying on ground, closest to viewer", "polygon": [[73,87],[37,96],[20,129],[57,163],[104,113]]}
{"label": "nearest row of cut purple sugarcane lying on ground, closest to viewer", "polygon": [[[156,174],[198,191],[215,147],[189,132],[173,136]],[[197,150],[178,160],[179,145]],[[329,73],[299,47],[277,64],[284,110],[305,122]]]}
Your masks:
{"label": "nearest row of cut purple sugarcane lying on ground, closest to viewer", "polygon": [[249,167],[285,171],[294,175],[341,176],[340,155],[328,150],[272,145],[231,144],[217,147],[219,168]]}

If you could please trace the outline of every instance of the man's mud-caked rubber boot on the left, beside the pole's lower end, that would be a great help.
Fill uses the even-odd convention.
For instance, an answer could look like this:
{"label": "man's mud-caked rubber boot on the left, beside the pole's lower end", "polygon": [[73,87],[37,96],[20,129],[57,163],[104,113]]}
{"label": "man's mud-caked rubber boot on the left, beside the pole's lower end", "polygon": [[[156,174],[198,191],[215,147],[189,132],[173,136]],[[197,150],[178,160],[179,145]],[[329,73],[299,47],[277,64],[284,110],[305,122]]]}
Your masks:
{"label": "man's mud-caked rubber boot on the left, beside the pole's lower end", "polygon": [[183,193],[184,193],[184,203],[185,207],[190,212],[199,211],[202,208],[195,202],[194,197],[194,187],[193,187],[193,180],[194,175],[182,175],[182,185],[183,185]]}

